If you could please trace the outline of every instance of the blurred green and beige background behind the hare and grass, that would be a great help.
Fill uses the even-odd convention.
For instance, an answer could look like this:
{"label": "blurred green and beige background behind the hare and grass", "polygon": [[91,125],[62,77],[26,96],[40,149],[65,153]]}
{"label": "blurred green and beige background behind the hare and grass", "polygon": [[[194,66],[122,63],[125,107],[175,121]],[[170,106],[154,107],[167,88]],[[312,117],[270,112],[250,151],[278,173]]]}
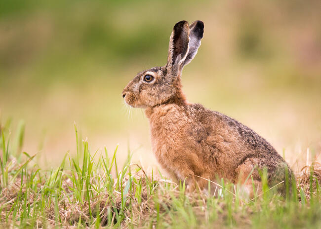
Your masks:
{"label": "blurred green and beige background behind the hare and grass", "polygon": [[[1,123],[25,123],[23,151],[43,166],[76,151],[74,122],[92,153],[156,165],[148,120],[123,87],[162,66],[180,20],[204,38],[183,71],[184,91],[265,137],[296,169],[321,152],[319,0],[1,0]],[[20,123],[20,124],[19,124]]]}

